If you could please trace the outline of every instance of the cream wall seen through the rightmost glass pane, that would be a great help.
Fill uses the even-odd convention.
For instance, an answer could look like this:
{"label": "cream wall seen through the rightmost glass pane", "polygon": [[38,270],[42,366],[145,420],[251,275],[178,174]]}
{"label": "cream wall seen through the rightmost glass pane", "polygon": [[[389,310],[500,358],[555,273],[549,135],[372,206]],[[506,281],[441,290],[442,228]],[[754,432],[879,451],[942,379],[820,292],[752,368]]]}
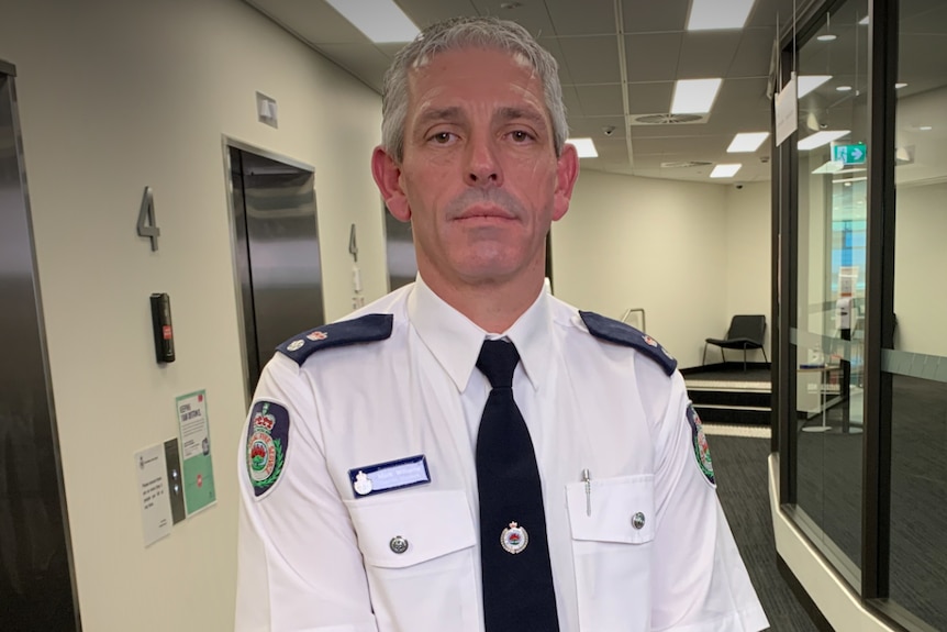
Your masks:
{"label": "cream wall seen through the rightmost glass pane", "polygon": [[947,356],[947,182],[898,188],[894,230],[895,348]]}

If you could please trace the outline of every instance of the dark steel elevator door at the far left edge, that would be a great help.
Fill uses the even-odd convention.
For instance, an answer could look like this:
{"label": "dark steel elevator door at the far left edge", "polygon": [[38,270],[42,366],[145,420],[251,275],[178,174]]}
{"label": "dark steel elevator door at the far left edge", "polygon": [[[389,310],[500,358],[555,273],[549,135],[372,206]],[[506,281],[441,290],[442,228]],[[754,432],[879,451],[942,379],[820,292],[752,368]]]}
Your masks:
{"label": "dark steel elevator door at the far left edge", "polygon": [[79,630],[19,146],[12,68],[0,62],[0,630]]}

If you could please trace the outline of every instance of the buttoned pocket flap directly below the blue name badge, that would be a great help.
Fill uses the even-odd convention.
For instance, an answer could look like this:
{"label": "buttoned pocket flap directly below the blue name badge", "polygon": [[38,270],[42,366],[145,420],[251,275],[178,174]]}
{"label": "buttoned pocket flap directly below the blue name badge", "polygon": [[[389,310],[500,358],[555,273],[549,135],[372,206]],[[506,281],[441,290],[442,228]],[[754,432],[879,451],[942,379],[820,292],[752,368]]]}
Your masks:
{"label": "buttoned pocket flap directly below the blue name badge", "polygon": [[346,500],[367,564],[404,568],[477,543],[467,496],[459,490],[386,494]]}

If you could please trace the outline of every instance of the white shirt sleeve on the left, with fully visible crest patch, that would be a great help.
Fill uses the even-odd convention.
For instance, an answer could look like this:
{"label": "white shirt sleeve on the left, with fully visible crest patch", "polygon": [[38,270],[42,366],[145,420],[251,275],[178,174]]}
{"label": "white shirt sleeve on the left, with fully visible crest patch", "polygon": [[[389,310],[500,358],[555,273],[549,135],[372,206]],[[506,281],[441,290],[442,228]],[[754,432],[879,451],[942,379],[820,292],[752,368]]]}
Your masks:
{"label": "white shirt sleeve on the left, with fully visible crest patch", "polygon": [[377,632],[317,429],[309,380],[278,354],[264,368],[238,451],[236,632]]}

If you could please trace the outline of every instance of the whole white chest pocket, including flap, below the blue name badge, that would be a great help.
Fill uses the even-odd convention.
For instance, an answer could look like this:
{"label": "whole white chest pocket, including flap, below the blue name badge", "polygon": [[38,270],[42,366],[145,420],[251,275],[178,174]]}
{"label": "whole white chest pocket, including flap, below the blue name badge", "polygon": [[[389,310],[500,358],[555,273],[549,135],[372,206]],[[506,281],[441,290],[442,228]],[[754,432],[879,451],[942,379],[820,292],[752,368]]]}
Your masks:
{"label": "whole white chest pocket, including flap, below the blue name badge", "polygon": [[479,630],[477,536],[460,490],[345,501],[380,632]]}

